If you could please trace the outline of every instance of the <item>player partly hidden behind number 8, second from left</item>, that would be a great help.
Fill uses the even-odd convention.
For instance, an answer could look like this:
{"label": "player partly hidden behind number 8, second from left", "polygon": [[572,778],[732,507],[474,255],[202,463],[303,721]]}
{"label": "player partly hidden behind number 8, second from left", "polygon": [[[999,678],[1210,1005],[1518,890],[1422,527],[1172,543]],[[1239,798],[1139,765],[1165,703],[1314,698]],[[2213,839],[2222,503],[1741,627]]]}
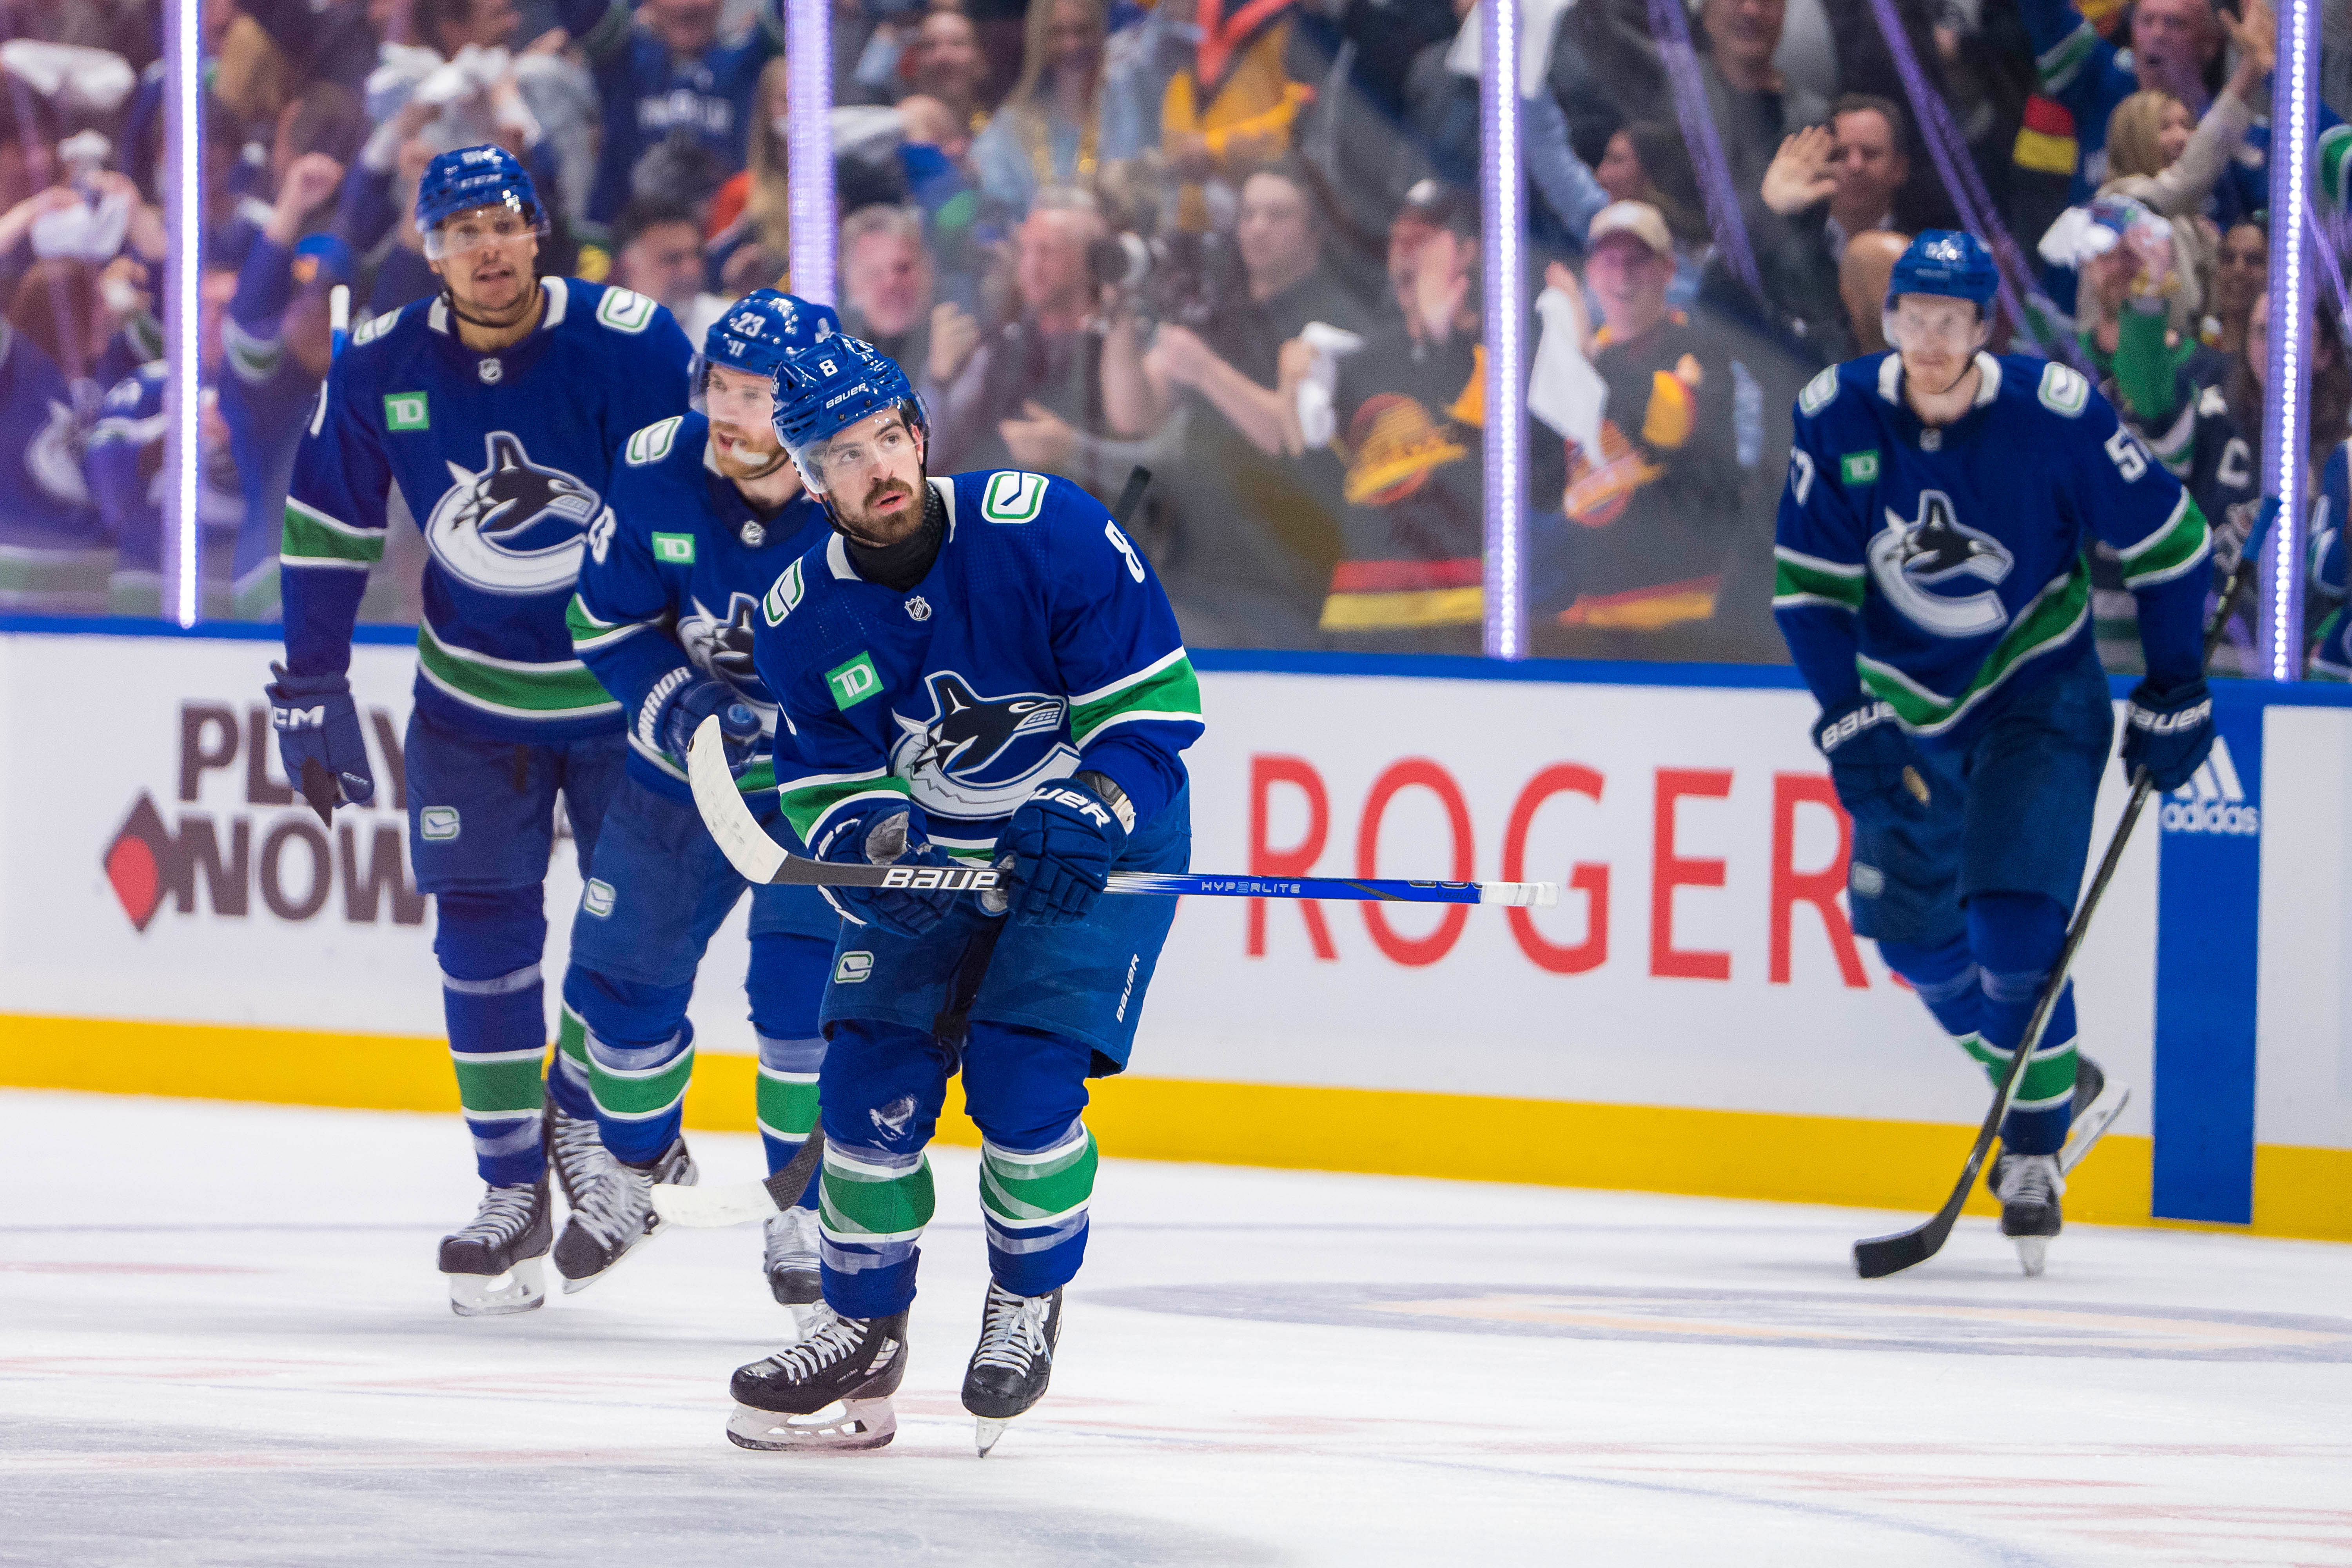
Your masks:
{"label": "player partly hidden behind number 8, second from left", "polygon": [[[753,616],[776,574],[833,531],[776,440],[774,374],[786,353],[837,327],[828,306],[774,289],[729,308],[694,362],[694,409],[628,437],[588,529],[572,646],[621,703],[628,778],[604,811],[595,877],[572,922],[564,1006],[586,1023],[588,1088],[619,1180],[574,1206],[555,1239],[564,1291],[661,1227],[656,1180],[694,1180],[677,1133],[694,1072],[687,999],[746,882],[694,811],[687,745],[696,724],[720,715],[743,795],[762,818],[774,816],[776,701],[753,670]],[[746,990],[769,1173],[816,1126],[826,1058],[816,1009],[837,931],[816,889],[750,891]],[[767,1222],[769,1288],[790,1307],[816,1302],[814,1204],[811,1173],[804,1206]]]}

